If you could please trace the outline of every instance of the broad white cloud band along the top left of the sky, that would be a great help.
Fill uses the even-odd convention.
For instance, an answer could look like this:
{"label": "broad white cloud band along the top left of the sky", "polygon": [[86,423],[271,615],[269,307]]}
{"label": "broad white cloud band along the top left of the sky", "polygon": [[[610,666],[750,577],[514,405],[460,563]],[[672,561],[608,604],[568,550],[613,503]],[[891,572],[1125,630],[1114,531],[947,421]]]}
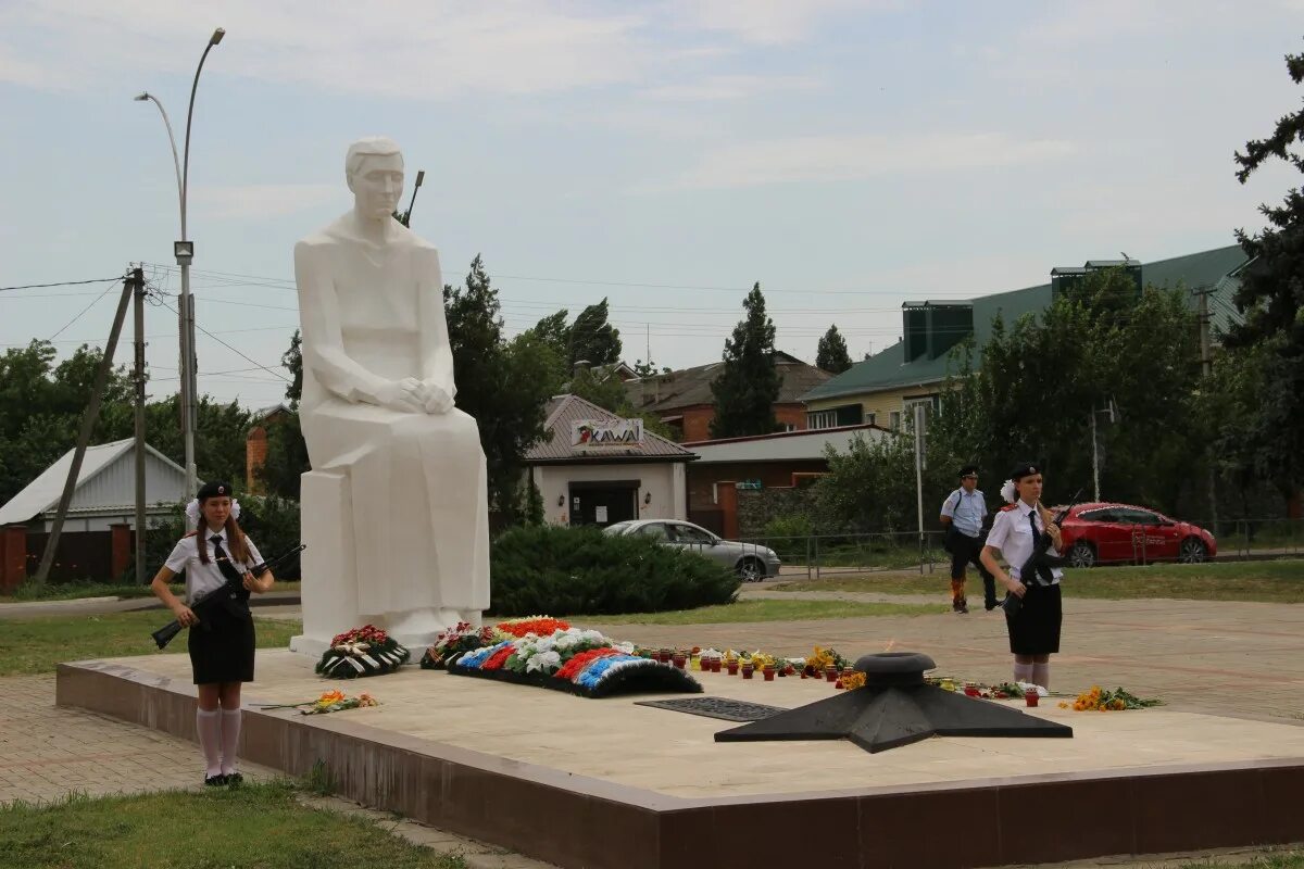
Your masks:
{"label": "broad white cloud band along the top left of the sky", "polygon": [[[631,81],[653,56],[636,14],[542,4],[227,0],[18,0],[0,9],[0,78],[76,87],[112,72],[189,77],[210,25],[210,64],[280,83],[399,98],[535,94]],[[220,60],[219,60],[220,59]]]}

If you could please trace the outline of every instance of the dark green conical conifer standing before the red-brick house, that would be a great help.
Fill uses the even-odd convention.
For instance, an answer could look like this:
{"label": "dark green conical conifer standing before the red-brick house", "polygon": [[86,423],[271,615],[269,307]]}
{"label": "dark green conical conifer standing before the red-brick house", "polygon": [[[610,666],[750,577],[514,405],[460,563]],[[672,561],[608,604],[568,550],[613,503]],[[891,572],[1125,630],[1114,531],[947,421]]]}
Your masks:
{"label": "dark green conical conifer standing before the red-brick house", "polygon": [[724,366],[711,383],[716,399],[712,438],[769,434],[778,429],[775,401],[780,378],[775,369],[775,321],[765,314],[758,281],[742,304],[746,317],[725,339]]}

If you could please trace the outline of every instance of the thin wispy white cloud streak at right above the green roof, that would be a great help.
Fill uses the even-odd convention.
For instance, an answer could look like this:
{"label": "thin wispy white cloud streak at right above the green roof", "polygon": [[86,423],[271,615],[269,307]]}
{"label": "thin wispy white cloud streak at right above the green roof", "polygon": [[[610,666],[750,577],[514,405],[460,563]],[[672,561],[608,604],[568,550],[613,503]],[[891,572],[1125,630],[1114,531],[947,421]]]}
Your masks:
{"label": "thin wispy white cloud streak at right above the green roof", "polygon": [[674,181],[653,184],[642,192],[857,181],[902,172],[1015,165],[1072,152],[1073,145],[1063,139],[1026,139],[1004,133],[803,135],[716,149]]}

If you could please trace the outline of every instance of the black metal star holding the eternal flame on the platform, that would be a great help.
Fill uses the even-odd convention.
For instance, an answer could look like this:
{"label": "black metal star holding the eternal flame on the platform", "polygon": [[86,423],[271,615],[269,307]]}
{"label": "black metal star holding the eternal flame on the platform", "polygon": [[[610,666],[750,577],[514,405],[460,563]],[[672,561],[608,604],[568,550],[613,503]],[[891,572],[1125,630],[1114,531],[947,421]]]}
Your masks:
{"label": "black metal star holding the eternal flame on the platform", "polygon": [[716,741],[849,739],[874,753],[930,736],[1073,736],[1065,724],[926,684],[934,666],[911,651],[865,655],[855,662],[865,688],[721,731]]}

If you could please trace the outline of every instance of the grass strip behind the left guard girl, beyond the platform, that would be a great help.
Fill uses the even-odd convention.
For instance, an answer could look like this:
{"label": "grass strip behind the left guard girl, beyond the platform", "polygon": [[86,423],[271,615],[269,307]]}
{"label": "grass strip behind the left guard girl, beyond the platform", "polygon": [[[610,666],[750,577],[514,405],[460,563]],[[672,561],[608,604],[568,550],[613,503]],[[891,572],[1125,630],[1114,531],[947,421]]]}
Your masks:
{"label": "grass strip behind the left guard girl, beyond the platform", "polygon": [[[37,616],[0,621],[0,676],[53,672],[60,661],[158,654],[150,633],[172,618],[166,610],[106,615]],[[259,648],[284,649],[299,621],[254,615]],[[185,651],[185,632],[167,651]],[[4,865],[0,861],[0,865]]]}

